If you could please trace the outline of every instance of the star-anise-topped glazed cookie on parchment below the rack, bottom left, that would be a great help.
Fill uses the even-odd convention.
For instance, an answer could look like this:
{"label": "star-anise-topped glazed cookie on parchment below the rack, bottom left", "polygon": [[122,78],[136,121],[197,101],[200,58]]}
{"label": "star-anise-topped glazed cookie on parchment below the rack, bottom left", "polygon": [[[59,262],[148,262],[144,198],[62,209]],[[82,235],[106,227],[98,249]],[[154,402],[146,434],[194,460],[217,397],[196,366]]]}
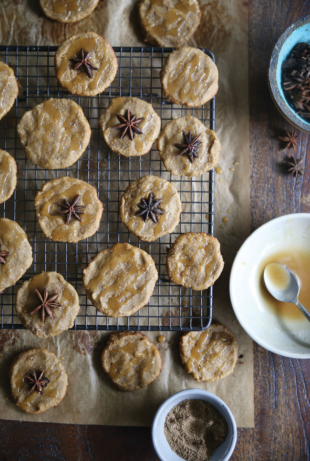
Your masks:
{"label": "star-anise-topped glazed cookie on parchment below the rack, bottom left", "polygon": [[38,414],[56,407],[66,395],[68,377],[53,352],[43,348],[24,350],[9,371],[12,397],[19,408]]}

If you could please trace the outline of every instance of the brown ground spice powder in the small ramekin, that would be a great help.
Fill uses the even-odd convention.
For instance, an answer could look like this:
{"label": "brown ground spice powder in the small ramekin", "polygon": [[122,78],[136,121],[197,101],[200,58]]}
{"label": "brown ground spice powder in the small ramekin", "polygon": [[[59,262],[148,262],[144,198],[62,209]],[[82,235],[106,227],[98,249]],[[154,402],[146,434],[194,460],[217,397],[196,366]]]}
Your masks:
{"label": "brown ground spice powder in the small ramekin", "polygon": [[225,418],[209,402],[186,399],[167,414],[164,433],[173,451],[186,461],[208,461],[228,434]]}

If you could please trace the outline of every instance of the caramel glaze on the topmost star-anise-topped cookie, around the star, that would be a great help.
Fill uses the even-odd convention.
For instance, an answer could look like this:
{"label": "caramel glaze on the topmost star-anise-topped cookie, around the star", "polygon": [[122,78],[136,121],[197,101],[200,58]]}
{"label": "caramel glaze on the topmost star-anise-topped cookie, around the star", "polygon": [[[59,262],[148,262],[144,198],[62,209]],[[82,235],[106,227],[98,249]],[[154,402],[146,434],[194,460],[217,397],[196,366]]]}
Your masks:
{"label": "caramel glaze on the topmost star-anise-topped cookie, around the star", "polygon": [[[91,38],[84,38],[79,37],[76,40],[73,40],[68,51],[66,52],[65,56],[62,58],[60,67],[57,71],[57,78],[58,80],[64,79],[66,81],[66,89],[72,91],[74,87],[82,84],[82,90],[95,90],[98,88],[99,84],[101,84],[101,77],[102,74],[107,71],[108,66],[110,65],[110,58],[108,57],[107,53],[104,53],[104,57],[99,61],[95,59],[95,53],[93,49],[95,48],[98,40],[100,37],[91,37]],[[98,67],[98,71],[93,70],[93,78],[88,77],[87,72],[81,66],[78,70],[74,71],[74,63],[70,62],[70,59],[81,57],[81,48],[83,48],[85,53],[88,53],[90,50],[93,51],[89,62],[96,67]],[[76,73],[75,77],[72,77]],[[70,74],[70,77],[69,77]]]}

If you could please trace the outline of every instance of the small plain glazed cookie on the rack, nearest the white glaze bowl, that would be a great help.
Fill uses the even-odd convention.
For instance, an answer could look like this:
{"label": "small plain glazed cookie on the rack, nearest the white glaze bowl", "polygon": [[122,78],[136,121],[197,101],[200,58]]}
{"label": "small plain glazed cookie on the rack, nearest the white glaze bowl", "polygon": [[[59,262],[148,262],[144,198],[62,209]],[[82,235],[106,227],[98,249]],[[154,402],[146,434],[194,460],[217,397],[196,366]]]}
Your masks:
{"label": "small plain glazed cookie on the rack, nearest the white glaze bowl", "polygon": [[180,235],[166,257],[169,280],[193,290],[205,290],[213,285],[223,267],[219,241],[204,232]]}

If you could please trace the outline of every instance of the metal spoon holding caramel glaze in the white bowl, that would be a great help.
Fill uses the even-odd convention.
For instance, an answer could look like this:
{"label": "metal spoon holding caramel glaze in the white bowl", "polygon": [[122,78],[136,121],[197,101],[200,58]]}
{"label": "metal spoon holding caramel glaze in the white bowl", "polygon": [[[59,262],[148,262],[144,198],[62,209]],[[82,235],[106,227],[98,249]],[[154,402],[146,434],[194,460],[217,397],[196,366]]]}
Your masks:
{"label": "metal spoon holding caramel glaze in the white bowl", "polygon": [[275,262],[267,264],[264,270],[264,282],[267,290],[275,299],[292,302],[310,322],[310,313],[298,301],[298,280],[286,266]]}

